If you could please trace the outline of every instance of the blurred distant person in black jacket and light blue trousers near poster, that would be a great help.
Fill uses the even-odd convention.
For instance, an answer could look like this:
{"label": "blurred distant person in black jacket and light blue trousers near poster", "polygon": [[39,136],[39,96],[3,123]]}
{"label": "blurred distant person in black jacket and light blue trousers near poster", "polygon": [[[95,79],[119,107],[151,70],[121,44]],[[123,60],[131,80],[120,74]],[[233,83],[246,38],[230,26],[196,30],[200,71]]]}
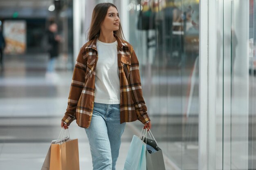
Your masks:
{"label": "blurred distant person in black jacket and light blue trousers near poster", "polygon": [[57,34],[58,25],[55,22],[51,22],[47,30],[47,39],[49,43],[49,61],[46,68],[46,78],[56,78],[55,63],[58,57],[58,44],[61,41],[61,36]]}

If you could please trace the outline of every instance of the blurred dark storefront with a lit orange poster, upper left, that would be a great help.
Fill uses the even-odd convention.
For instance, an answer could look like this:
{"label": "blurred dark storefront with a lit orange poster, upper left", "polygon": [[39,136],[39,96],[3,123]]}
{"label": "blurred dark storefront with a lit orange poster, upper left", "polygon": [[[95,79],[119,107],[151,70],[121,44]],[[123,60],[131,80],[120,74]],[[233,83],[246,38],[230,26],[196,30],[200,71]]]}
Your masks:
{"label": "blurred dark storefront with a lit orange poster, upper left", "polygon": [[[50,22],[58,25],[59,59],[72,69],[73,62],[73,1],[72,0],[2,0],[0,20],[6,38],[5,55],[42,54]],[[66,68],[65,66],[65,68]]]}

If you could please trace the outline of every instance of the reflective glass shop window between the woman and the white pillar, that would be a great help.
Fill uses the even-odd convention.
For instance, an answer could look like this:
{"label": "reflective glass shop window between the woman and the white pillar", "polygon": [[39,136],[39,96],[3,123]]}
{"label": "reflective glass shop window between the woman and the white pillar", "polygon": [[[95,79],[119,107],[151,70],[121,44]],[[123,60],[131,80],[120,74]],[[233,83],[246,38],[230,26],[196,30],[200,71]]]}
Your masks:
{"label": "reflective glass shop window between the woman and the white pillar", "polygon": [[198,169],[199,0],[129,0],[127,8],[128,38],[166,169]]}

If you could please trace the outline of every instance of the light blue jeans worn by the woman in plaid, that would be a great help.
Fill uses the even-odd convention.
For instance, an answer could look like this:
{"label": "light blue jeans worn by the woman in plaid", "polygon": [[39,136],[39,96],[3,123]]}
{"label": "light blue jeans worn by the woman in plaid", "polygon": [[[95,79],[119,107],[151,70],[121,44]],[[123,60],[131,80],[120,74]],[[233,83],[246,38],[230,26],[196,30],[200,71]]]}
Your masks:
{"label": "light blue jeans worn by the woman in plaid", "polygon": [[121,136],[120,105],[94,103],[92,120],[85,132],[89,139],[93,170],[115,170]]}

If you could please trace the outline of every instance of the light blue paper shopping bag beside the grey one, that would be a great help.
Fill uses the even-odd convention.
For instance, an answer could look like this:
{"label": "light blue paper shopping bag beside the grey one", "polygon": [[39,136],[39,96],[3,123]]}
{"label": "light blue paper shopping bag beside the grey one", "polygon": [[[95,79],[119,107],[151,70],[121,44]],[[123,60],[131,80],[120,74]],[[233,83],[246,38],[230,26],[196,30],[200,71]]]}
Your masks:
{"label": "light blue paper shopping bag beside the grey one", "polygon": [[132,137],[124,170],[146,170],[146,144],[140,139],[140,136],[133,135]]}

